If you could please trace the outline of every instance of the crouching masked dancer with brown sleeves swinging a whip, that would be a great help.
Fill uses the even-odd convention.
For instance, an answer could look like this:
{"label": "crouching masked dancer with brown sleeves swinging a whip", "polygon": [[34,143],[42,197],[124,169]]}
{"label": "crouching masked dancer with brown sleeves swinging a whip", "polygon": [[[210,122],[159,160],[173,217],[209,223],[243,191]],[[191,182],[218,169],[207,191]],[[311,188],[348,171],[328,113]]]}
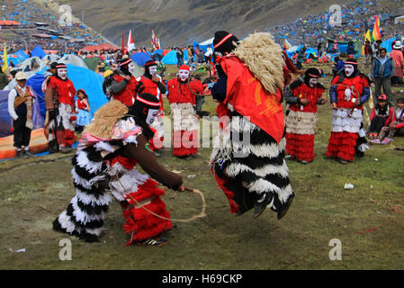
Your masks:
{"label": "crouching masked dancer with brown sleeves swinging a whip", "polygon": [[[133,106],[112,100],[94,114],[87,125],[76,156],[72,175],[76,196],[53,222],[53,229],[75,235],[88,242],[98,241],[112,198],[121,203],[127,246],[163,245],[161,233],[172,228],[166,204],[160,198],[165,191],[156,179],[172,189],[184,191],[182,177],[157,163],[148,139],[149,125],[160,108],[151,94],[139,94]],[[148,175],[142,175],[136,165]]]}

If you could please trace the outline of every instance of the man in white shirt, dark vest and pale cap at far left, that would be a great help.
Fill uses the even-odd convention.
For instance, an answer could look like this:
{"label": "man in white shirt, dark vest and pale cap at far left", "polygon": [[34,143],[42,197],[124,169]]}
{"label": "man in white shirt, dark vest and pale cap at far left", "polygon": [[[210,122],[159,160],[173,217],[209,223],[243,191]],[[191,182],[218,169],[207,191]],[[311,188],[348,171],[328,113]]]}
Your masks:
{"label": "man in white shirt, dark vest and pale cap at far left", "polygon": [[[14,144],[17,148],[17,157],[32,157],[30,140],[32,125],[33,94],[26,85],[27,76],[18,72],[15,76],[17,85],[8,94],[8,112],[13,118]],[[22,148],[23,147],[23,148]]]}

